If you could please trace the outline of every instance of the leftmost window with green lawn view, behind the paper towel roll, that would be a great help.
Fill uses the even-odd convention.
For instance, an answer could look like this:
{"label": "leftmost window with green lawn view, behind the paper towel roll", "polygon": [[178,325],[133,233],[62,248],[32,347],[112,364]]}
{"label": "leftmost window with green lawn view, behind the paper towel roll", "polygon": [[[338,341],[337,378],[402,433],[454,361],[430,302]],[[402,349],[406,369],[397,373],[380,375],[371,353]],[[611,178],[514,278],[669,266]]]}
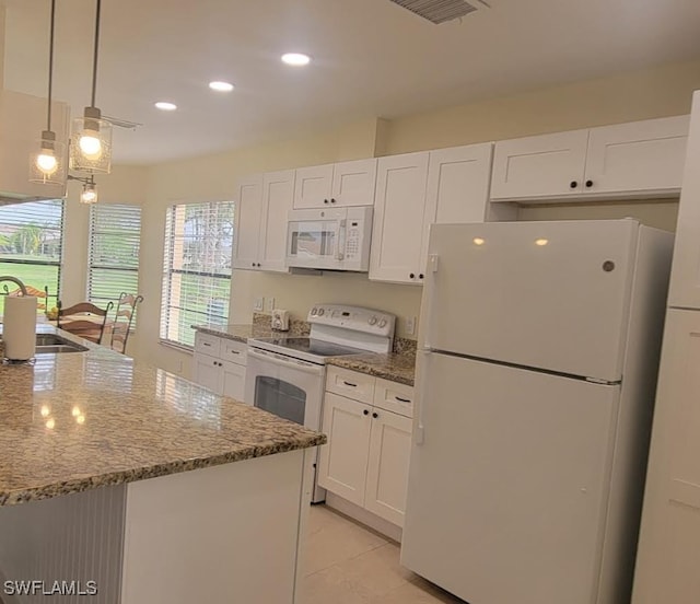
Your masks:
{"label": "leftmost window with green lawn view, behind the paper towel roll", "polygon": [[[61,247],[63,239],[63,200],[26,201],[0,206],[0,275],[20,279],[39,295],[38,312],[55,306],[59,298]],[[16,287],[0,283],[2,293]],[[48,290],[48,301],[44,298]],[[0,295],[0,314],[4,297]]]}

